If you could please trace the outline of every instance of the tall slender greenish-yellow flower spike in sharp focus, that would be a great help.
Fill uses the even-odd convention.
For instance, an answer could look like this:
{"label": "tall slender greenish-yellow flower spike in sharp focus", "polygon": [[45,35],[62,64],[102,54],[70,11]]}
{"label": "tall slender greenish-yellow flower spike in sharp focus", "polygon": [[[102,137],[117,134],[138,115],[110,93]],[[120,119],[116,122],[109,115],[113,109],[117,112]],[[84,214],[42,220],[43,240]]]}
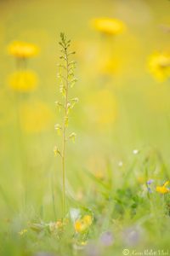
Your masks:
{"label": "tall slender greenish-yellow flower spike in sharp focus", "polygon": [[61,47],[61,55],[59,67],[59,92],[62,95],[61,102],[55,102],[59,112],[62,111],[62,122],[61,124],[56,124],[54,126],[55,130],[58,131],[58,134],[62,137],[61,148],[57,146],[54,148],[54,154],[58,154],[62,162],[62,217],[65,217],[66,210],[66,193],[65,193],[65,147],[66,143],[69,140],[75,140],[76,133],[67,132],[68,123],[69,123],[69,113],[75,104],[78,102],[78,98],[70,98],[69,91],[77,82],[75,78],[74,70],[76,67],[76,61],[71,60],[71,56],[75,54],[74,51],[70,51],[71,40],[65,38],[64,33],[60,33],[59,45]]}

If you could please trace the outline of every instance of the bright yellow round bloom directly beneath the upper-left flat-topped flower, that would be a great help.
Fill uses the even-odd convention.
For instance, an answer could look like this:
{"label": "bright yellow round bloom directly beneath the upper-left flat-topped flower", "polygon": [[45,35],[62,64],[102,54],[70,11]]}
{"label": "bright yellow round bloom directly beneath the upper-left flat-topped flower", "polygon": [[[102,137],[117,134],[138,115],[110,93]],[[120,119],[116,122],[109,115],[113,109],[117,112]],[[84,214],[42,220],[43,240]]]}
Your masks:
{"label": "bright yellow round bloom directly beneath the upper-left flat-topped flower", "polygon": [[20,70],[9,75],[8,84],[13,90],[32,91],[37,88],[37,74],[31,70]]}

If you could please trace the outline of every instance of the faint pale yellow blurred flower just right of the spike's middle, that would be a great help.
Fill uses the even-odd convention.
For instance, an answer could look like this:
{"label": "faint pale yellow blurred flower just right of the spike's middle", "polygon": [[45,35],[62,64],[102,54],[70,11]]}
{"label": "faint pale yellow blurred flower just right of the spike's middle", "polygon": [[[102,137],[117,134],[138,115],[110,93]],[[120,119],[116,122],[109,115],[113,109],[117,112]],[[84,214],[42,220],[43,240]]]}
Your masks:
{"label": "faint pale yellow blurred flower just right of the spike's middle", "polygon": [[110,90],[99,90],[90,98],[90,117],[99,125],[110,125],[116,120],[117,103]]}

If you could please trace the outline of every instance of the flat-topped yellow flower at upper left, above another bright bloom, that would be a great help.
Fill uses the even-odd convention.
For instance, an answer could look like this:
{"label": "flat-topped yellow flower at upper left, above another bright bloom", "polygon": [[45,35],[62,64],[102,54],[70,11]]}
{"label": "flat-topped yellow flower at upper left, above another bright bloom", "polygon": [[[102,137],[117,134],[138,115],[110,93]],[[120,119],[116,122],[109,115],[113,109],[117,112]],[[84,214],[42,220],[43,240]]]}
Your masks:
{"label": "flat-topped yellow flower at upper left, above another bright bloom", "polygon": [[30,58],[37,55],[39,49],[35,44],[14,41],[8,45],[8,54],[16,58]]}

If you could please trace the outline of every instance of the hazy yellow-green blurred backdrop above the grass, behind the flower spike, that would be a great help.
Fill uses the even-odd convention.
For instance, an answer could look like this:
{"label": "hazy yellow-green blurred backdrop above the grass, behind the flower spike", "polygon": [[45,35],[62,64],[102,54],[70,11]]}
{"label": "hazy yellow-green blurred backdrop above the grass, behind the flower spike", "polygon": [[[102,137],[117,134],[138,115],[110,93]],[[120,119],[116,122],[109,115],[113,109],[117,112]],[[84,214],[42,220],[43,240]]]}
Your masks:
{"label": "hazy yellow-green blurred backdrop above the grass, behind the flower spike", "polygon": [[[79,102],[69,125],[77,139],[68,144],[66,154],[67,178],[74,192],[83,186],[84,170],[100,172],[108,159],[117,163],[128,159],[134,148],[151,146],[168,156],[170,80],[168,75],[157,79],[149,62],[156,52],[170,52],[169,13],[166,0],[0,2],[0,189],[4,212],[6,201],[13,206],[22,204],[25,190],[28,202],[50,207],[51,180],[60,181],[60,160],[53,152],[60,141],[54,130],[59,122],[54,102],[59,98],[60,32],[71,38],[71,49],[77,52],[78,82],[71,95]],[[93,27],[95,18],[116,18],[126,28],[118,35],[105,36]],[[26,63],[36,74],[35,90],[20,93],[10,86],[16,60],[8,55],[8,44],[15,40],[39,49]]]}

